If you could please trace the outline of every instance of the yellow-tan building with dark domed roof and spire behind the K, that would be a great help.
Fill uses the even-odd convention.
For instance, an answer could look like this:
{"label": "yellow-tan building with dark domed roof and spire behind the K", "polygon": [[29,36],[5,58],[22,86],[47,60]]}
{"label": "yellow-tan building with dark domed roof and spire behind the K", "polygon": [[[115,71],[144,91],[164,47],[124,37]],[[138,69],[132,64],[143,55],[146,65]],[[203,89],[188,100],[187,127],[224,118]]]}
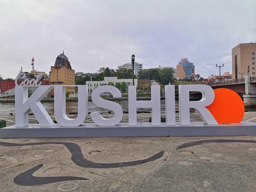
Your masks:
{"label": "yellow-tan building with dark domed roof and spire behind the K", "polygon": [[[61,53],[55,61],[54,66],[51,67],[51,84],[61,84],[61,85],[75,85],[76,84],[75,70],[71,68],[68,61],[68,57]],[[66,92],[70,94],[75,93],[75,87],[66,87]],[[50,95],[54,95],[53,90]]]}

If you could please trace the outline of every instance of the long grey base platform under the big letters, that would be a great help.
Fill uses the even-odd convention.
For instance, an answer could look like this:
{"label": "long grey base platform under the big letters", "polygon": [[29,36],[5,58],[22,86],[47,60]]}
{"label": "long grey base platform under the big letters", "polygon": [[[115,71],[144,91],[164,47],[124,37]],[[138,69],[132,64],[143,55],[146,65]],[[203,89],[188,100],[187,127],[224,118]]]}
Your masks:
{"label": "long grey base platform under the big letters", "polygon": [[139,137],[139,136],[228,136],[256,135],[256,123],[242,121],[207,125],[204,122],[191,122],[190,125],[152,125],[138,123],[129,126],[120,123],[115,126],[98,126],[86,123],[80,126],[63,127],[56,124],[52,127],[41,127],[39,124],[29,124],[25,127],[15,125],[0,129],[0,138],[55,138],[55,137]]}

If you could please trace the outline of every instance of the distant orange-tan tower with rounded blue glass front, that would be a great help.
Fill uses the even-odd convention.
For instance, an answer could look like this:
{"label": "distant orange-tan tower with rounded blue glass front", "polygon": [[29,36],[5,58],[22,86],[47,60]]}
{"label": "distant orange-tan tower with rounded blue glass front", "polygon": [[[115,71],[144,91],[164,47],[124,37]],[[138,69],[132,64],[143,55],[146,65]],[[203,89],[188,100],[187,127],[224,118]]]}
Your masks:
{"label": "distant orange-tan tower with rounded blue glass front", "polygon": [[180,59],[179,64],[177,65],[177,78],[190,79],[190,77],[194,77],[194,74],[194,63],[190,63],[187,58]]}

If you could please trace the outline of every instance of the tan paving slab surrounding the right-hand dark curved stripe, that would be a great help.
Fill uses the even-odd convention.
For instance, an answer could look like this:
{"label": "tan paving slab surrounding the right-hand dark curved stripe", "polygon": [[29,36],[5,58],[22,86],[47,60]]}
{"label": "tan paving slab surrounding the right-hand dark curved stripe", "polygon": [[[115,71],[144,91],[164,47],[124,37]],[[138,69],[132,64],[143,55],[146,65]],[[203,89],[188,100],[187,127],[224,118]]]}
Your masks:
{"label": "tan paving slab surrounding the right-hand dark curved stripe", "polygon": [[[182,143],[205,139],[215,140],[221,138],[224,139],[225,137],[187,137],[187,139],[180,138],[183,140],[172,140],[172,148],[169,156],[175,158],[205,159],[212,162],[221,161],[223,163],[241,163],[241,159],[243,159],[243,164],[256,164],[256,143],[212,143],[176,149]],[[249,140],[244,136],[227,137],[226,139]]]}

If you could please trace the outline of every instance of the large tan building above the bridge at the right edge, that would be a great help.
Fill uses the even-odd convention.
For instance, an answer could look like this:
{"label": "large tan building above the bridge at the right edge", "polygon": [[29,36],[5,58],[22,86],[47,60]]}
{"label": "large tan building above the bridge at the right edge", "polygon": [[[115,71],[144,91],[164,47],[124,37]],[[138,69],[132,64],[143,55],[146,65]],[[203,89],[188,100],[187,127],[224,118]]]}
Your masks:
{"label": "large tan building above the bridge at the right edge", "polygon": [[247,73],[248,65],[250,75],[255,77],[256,43],[241,43],[232,49],[232,78],[240,79],[240,73]]}

